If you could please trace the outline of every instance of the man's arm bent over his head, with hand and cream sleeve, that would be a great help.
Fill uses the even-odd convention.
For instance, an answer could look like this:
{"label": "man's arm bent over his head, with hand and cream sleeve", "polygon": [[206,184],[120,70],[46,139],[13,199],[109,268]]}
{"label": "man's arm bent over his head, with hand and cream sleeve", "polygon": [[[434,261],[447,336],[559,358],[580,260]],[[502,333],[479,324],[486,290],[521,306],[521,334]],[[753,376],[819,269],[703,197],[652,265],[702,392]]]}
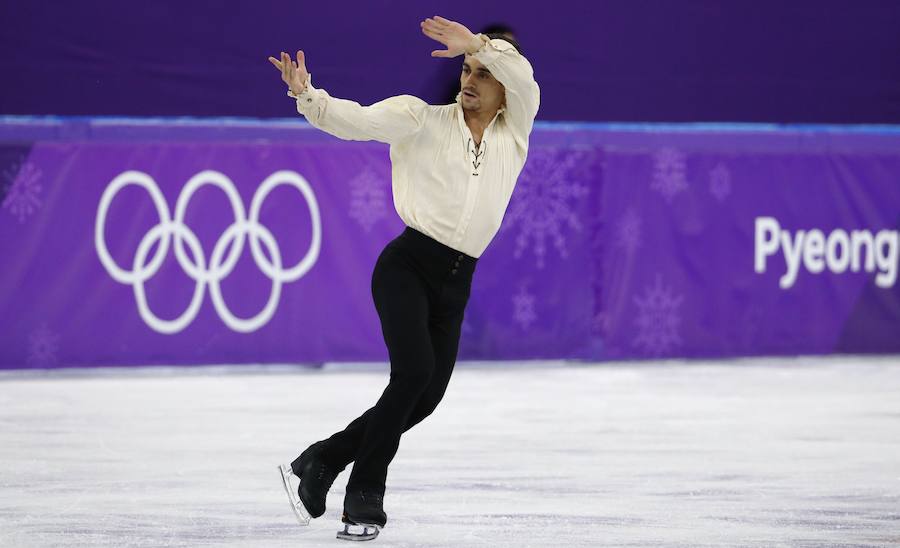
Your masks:
{"label": "man's arm bent over his head, with hand and cream sleeve", "polygon": [[537,116],[541,94],[534,80],[531,63],[505,40],[488,39],[483,34],[472,34],[465,25],[440,16],[429,17],[421,23],[425,36],[447,46],[446,50],[431,52],[432,57],[456,57],[464,53],[473,55],[486,66],[494,78],[506,88],[508,121],[527,148],[528,134]]}

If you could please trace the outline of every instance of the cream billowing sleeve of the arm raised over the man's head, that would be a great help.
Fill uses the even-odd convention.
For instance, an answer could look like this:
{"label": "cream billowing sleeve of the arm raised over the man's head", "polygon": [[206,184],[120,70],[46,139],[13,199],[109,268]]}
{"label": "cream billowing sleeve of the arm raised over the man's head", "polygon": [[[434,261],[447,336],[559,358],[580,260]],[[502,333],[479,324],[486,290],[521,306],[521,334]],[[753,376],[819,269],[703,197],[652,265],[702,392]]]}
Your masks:
{"label": "cream billowing sleeve of the arm raised over the man's head", "polygon": [[520,145],[528,148],[528,135],[541,102],[541,90],[534,80],[531,63],[506,40],[477,36],[482,44],[472,55],[506,88],[507,121]]}

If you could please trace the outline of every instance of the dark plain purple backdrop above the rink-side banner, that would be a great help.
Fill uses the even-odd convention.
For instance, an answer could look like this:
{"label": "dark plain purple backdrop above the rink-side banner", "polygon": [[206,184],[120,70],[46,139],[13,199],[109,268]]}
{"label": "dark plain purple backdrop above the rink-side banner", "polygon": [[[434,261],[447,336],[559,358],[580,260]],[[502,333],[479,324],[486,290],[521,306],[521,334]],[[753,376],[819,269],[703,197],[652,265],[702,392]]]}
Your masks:
{"label": "dark plain purple backdrop above the rink-side banner", "polygon": [[896,0],[0,2],[0,114],[294,115],[266,61],[369,104],[444,100],[419,21],[513,26],[542,120],[900,123]]}

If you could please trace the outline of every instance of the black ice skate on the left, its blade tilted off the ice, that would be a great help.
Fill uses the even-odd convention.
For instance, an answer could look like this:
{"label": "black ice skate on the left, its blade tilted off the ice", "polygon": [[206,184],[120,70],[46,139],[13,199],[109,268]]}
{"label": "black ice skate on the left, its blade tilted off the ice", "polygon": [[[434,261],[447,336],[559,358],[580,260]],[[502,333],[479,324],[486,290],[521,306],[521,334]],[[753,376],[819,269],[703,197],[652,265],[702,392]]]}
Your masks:
{"label": "black ice skate on the left, its blade tilted off the ice", "polygon": [[343,470],[335,469],[322,460],[322,443],[312,444],[290,467],[279,467],[284,489],[300,525],[309,525],[310,518],[317,518],[325,513],[325,496],[334,479]]}

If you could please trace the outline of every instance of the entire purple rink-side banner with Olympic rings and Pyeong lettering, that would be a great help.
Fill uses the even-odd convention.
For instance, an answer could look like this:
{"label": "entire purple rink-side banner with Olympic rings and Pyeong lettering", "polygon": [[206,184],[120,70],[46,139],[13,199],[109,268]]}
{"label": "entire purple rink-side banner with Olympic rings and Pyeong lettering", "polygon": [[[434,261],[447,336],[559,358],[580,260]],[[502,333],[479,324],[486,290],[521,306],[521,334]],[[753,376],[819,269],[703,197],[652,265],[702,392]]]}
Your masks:
{"label": "entire purple rink-side banner with Olympic rings and Pyeong lettering", "polygon": [[[460,359],[900,350],[900,132],[539,124]],[[387,360],[387,147],[6,118],[0,367]]]}

